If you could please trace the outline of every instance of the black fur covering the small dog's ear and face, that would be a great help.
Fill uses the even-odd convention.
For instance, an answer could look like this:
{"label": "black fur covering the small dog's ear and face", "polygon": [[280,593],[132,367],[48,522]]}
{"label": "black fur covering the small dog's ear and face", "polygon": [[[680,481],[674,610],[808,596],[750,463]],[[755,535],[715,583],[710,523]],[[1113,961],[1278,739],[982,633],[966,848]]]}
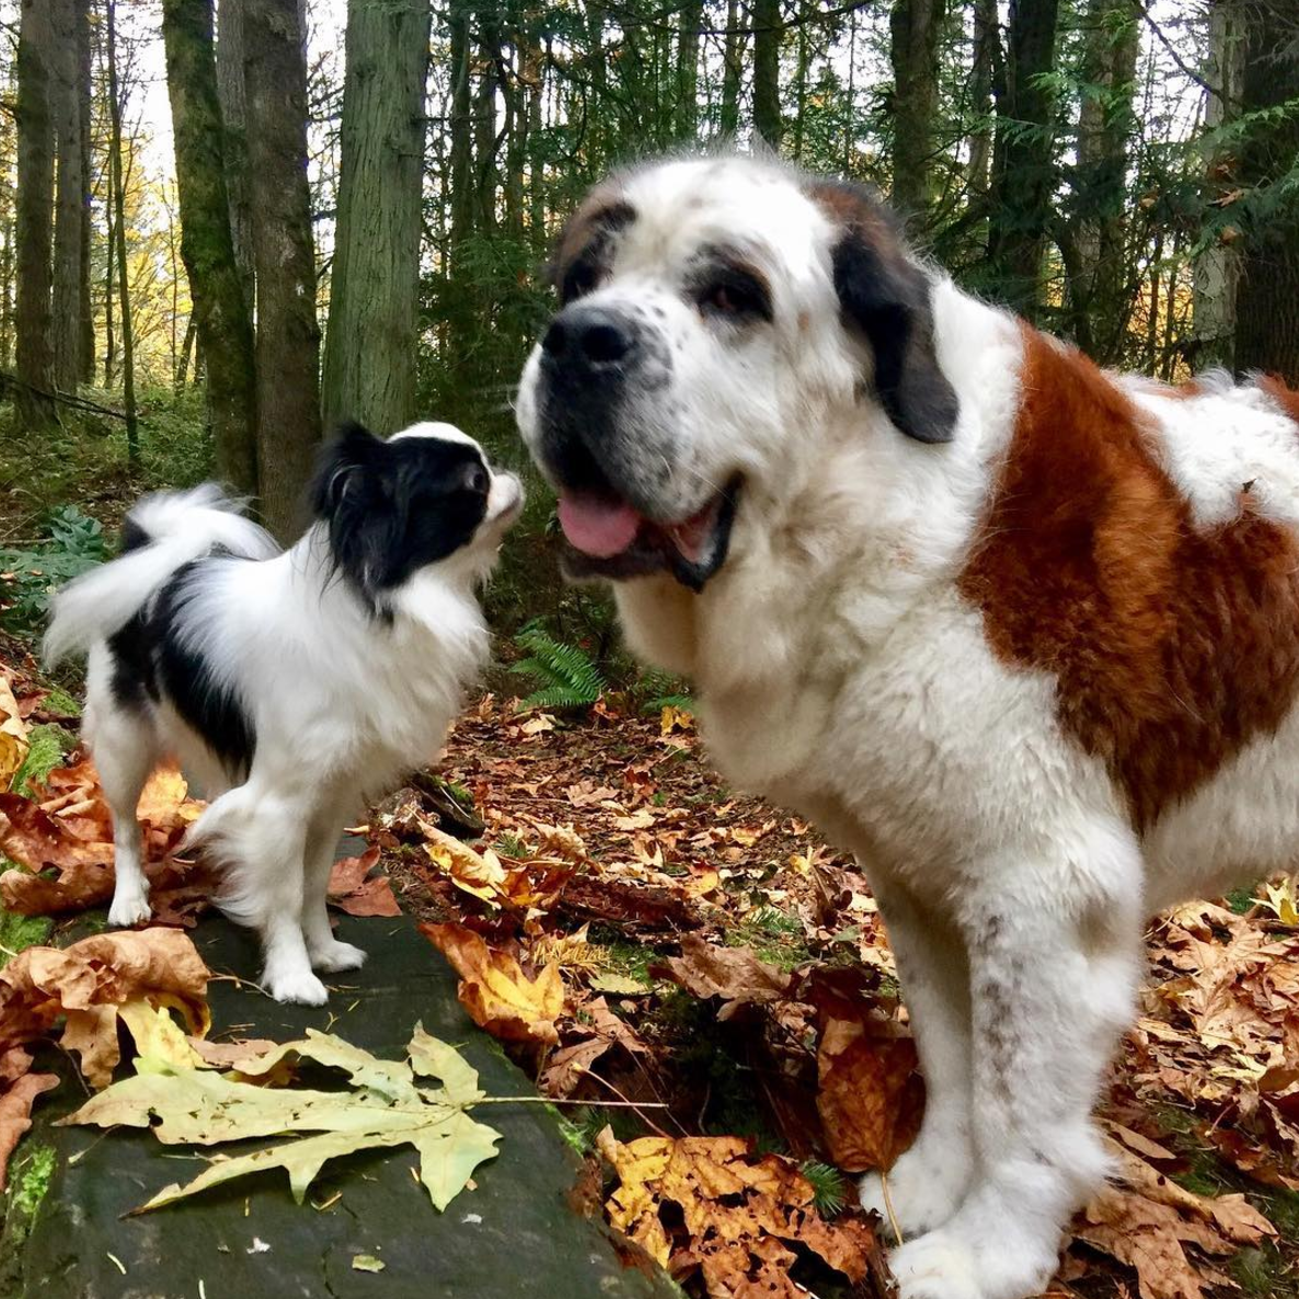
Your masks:
{"label": "black fur covering the small dog's ear and face", "polygon": [[385,442],[346,425],[323,451],[312,509],[329,530],[334,564],[366,608],[473,540],[487,513],[491,475],[470,443]]}

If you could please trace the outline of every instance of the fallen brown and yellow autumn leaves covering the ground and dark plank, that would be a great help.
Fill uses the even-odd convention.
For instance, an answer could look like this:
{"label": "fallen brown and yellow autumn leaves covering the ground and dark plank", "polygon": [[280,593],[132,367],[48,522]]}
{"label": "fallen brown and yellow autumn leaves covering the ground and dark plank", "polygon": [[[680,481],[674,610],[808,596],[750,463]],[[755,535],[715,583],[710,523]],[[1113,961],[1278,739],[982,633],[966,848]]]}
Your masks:
{"label": "fallen brown and yellow autumn leaves covering the ground and dark plank", "polygon": [[[0,694],[14,787],[25,698],[18,673]],[[174,855],[199,809],[174,772],[142,800],[153,925],[0,970],[0,1172],[55,1081],[32,1072],[34,1046],[61,1037],[104,1087],[121,1024],[135,1073],[118,1069],[74,1120],[153,1121],[186,1144],[290,1138],[218,1156],[145,1207],[261,1167],[301,1195],[333,1155],[395,1144],[420,1151],[443,1207],[498,1141],[449,1047],[416,1029],[396,1063],[323,1034],[205,1039],[207,972],[165,927],[192,925],[210,889]],[[721,785],[687,712],[647,718],[607,696],[556,717],[488,695],[436,776],[365,831],[331,902],[422,922],[468,1013],[565,1103],[586,1159],[574,1202],[624,1233],[629,1257],[712,1299],[886,1293],[879,1224],[842,1174],[905,1150],[924,1086],[878,912],[811,826]],[[0,795],[0,852],[8,912],[101,905],[112,834],[90,764]],[[1289,885],[1234,902],[1151,927],[1151,978],[1102,1111],[1118,1176],[1076,1218],[1052,1295],[1299,1295],[1299,909]],[[304,1066],[347,1086],[294,1086]]]}

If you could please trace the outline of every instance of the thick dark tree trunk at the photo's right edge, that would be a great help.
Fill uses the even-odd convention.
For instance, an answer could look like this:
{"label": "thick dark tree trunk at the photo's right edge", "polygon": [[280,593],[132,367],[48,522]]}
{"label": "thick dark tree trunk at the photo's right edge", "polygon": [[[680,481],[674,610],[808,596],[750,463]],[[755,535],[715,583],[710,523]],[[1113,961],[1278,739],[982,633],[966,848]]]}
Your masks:
{"label": "thick dark tree trunk at the photo's right edge", "polygon": [[[1299,99],[1299,22],[1286,6],[1250,10],[1241,109],[1256,113]],[[1299,114],[1254,126],[1241,144],[1250,194],[1235,304],[1235,368],[1299,385],[1299,203],[1269,192],[1299,166]]]}

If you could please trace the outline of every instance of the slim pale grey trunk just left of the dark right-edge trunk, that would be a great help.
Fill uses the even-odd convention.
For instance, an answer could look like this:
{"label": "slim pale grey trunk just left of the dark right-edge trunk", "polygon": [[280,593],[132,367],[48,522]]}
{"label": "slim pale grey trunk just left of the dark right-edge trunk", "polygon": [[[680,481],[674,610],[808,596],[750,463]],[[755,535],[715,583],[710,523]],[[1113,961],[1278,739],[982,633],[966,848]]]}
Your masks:
{"label": "slim pale grey trunk just left of the dark right-edge trunk", "polygon": [[[1204,66],[1204,129],[1215,131],[1241,112],[1241,82],[1244,78],[1246,9],[1242,0],[1211,0],[1209,57]],[[1239,190],[1239,160],[1234,145],[1225,145],[1205,158],[1205,212],[1217,231],[1195,259],[1194,364],[1196,369],[1222,365],[1231,369],[1235,355],[1235,295],[1241,279],[1239,229],[1215,200]]]}

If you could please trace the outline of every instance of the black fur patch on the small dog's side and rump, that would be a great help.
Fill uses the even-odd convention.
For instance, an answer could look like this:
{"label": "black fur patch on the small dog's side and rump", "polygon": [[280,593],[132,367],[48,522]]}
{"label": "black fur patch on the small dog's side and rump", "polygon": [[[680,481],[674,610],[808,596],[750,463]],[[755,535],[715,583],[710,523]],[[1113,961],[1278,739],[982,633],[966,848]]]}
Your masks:
{"label": "black fur patch on the small dog's side and rump", "polygon": [[238,782],[247,778],[257,751],[253,721],[203,655],[183,644],[177,634],[195,575],[208,562],[212,561],[196,560],[178,569],[156,598],[109,638],[113,695],[123,708],[169,699],[186,725],[221,760],[231,781]]}

